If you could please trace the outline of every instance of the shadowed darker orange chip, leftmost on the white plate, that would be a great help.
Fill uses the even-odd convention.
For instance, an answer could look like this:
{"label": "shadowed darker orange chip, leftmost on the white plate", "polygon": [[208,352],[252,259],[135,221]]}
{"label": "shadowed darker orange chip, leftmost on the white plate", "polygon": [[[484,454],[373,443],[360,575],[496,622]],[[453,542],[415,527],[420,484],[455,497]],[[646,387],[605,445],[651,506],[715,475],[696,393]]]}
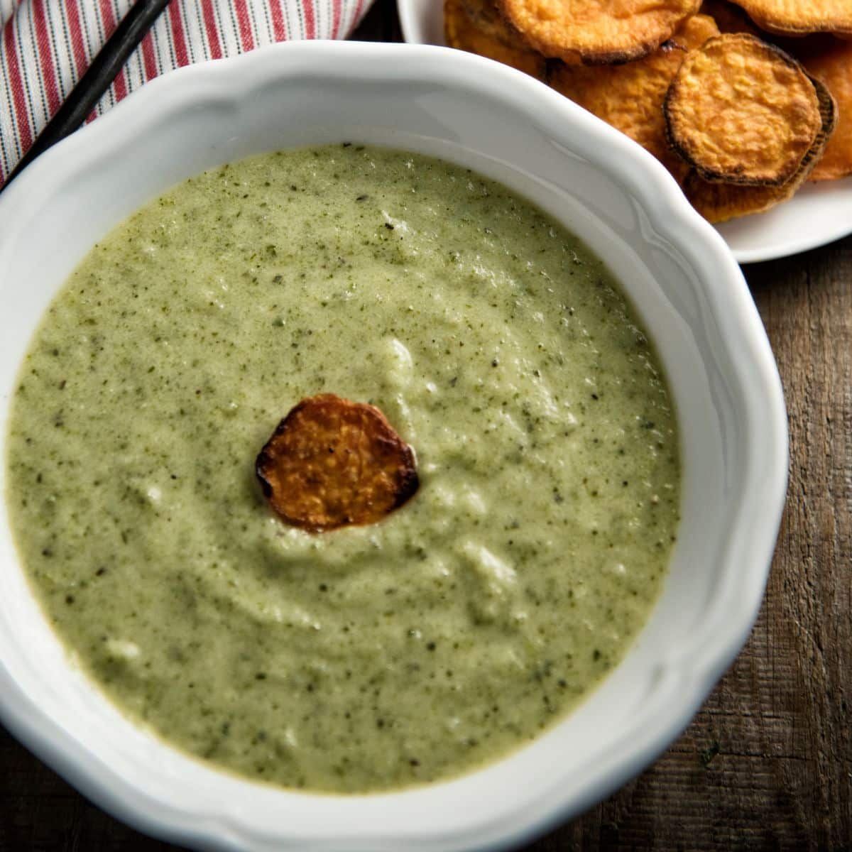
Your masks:
{"label": "shadowed darker orange chip, leftmost on the white plate", "polygon": [[445,0],[444,35],[451,48],[486,56],[544,79],[544,57],[529,49],[487,0]]}

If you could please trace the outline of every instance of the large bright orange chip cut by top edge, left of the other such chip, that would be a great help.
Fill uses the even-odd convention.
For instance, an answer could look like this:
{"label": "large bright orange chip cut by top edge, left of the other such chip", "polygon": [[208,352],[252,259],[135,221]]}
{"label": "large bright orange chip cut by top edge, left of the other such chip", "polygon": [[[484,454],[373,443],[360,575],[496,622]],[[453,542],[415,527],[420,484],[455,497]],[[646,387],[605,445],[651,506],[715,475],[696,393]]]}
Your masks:
{"label": "large bright orange chip cut by top edge, left of the other such chip", "polygon": [[578,65],[641,59],[659,48],[701,0],[499,0],[541,54]]}

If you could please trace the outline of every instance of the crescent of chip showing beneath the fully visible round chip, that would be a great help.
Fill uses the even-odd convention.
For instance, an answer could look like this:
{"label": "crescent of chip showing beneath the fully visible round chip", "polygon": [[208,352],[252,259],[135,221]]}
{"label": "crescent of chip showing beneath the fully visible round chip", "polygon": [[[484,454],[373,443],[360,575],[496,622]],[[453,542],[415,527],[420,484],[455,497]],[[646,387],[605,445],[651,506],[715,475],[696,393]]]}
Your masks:
{"label": "crescent of chip showing beneath the fully visible round chip", "polygon": [[797,173],[790,181],[780,187],[744,187],[705,181],[695,170],[688,175],[683,183],[683,192],[695,210],[698,210],[708,222],[727,222],[728,219],[735,219],[738,216],[763,213],[775,204],[791,199],[797,189],[808,179],[826,149],[826,143],[832,135],[837,120],[837,110],[828,89],[817,79],[811,82],[820,101],[822,128],[817,134],[814,145],[805,154]]}

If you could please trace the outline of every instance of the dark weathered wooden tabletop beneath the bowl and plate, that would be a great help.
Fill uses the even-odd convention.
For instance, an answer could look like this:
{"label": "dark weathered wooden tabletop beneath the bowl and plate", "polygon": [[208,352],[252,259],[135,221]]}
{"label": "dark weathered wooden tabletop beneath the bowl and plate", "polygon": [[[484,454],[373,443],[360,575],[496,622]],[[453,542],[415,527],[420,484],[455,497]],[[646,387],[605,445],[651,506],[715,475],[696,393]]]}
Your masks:
{"label": "dark weathered wooden tabletop beneath the bowl and plate", "polygon": [[[358,35],[399,40],[392,0],[377,0]],[[852,238],[744,271],[791,438],[757,625],[664,757],[527,852],[852,850]],[[178,849],[95,808],[3,728],[0,767],[3,852]]]}

